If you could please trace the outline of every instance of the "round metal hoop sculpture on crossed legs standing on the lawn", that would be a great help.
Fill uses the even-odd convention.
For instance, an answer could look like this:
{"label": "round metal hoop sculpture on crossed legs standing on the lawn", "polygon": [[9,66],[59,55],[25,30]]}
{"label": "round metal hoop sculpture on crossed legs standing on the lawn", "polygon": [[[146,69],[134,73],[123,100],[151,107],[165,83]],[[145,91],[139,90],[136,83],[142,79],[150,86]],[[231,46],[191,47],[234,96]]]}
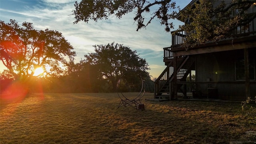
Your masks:
{"label": "round metal hoop sculpture on crossed legs standing on the lawn", "polygon": [[[118,88],[119,88],[119,85],[120,85],[120,80],[121,80],[121,78],[122,78],[126,73],[128,73],[128,72],[136,72],[136,71],[129,70],[129,71],[125,72],[124,74],[122,74],[122,76],[119,78],[118,83],[117,83],[117,85],[116,85],[117,94],[118,94],[119,98],[121,99],[118,108],[120,108],[120,107],[122,107],[122,106],[124,106],[124,107],[126,107],[126,106],[132,106],[133,108],[135,108],[135,109],[138,110],[138,106],[139,106],[139,104],[141,104],[140,98],[142,98],[142,96],[144,96],[145,91],[146,91],[146,87],[145,87],[144,80],[143,80],[143,78],[138,74],[138,72],[136,72],[136,73],[137,73],[138,76],[140,76],[140,80],[141,80],[141,82],[142,82],[141,90],[140,90],[138,96],[136,96],[134,99],[128,99],[126,96],[124,96],[124,94],[123,94],[122,92],[118,92]],[[121,95],[120,95],[119,93],[120,93]]]}

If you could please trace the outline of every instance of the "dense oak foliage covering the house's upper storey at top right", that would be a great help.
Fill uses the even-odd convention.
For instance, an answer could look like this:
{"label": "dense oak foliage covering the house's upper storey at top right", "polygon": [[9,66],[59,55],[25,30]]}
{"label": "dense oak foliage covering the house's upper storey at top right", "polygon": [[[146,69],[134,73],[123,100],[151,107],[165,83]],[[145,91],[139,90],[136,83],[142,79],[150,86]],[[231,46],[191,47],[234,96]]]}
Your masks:
{"label": "dense oak foliage covering the house's upper storey at top right", "polygon": [[248,12],[254,2],[256,0],[199,0],[188,6],[180,14],[182,21],[188,22],[180,26],[188,32],[183,45],[194,47],[232,36],[238,26],[246,27],[256,18],[256,12]]}

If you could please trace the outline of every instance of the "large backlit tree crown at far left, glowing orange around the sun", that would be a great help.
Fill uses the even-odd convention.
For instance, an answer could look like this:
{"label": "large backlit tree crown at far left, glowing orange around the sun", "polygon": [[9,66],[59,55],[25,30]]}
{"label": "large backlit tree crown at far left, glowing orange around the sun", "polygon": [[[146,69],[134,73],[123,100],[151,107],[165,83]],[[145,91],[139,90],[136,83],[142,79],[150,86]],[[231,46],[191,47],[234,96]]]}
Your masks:
{"label": "large backlit tree crown at far left, glowing orange around the sun", "polygon": [[0,21],[0,60],[15,79],[33,77],[34,70],[44,68],[48,75],[58,75],[67,60],[76,53],[56,30],[35,30],[32,23],[19,26],[15,20]]}

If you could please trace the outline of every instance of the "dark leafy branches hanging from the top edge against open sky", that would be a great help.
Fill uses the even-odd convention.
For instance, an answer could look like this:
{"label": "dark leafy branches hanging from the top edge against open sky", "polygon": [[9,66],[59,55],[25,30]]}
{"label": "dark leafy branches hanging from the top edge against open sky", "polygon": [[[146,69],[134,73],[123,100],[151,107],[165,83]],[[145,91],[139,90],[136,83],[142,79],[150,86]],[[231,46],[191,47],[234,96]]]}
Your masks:
{"label": "dark leafy branches hanging from the top edge against open sky", "polygon": [[[94,20],[95,22],[102,19],[108,19],[111,15],[122,18],[123,15],[135,10],[136,15],[134,21],[137,23],[137,31],[140,28],[146,28],[154,19],[158,18],[161,25],[165,25],[167,32],[173,28],[173,23],[169,22],[174,19],[176,12],[176,2],[171,0],[81,0],[75,2],[75,22],[87,22]],[[148,22],[144,22],[145,13],[151,13]]]}

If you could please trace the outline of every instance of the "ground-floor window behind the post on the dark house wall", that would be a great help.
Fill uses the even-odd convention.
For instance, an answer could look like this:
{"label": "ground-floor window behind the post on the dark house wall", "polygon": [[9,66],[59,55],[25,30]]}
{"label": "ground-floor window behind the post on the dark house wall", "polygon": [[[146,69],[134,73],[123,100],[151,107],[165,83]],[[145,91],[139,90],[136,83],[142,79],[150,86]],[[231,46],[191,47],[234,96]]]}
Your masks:
{"label": "ground-floor window behind the post on the dark house wall", "polygon": [[[255,80],[254,59],[249,59],[249,76],[250,80]],[[236,80],[245,80],[244,58],[236,59]]]}

